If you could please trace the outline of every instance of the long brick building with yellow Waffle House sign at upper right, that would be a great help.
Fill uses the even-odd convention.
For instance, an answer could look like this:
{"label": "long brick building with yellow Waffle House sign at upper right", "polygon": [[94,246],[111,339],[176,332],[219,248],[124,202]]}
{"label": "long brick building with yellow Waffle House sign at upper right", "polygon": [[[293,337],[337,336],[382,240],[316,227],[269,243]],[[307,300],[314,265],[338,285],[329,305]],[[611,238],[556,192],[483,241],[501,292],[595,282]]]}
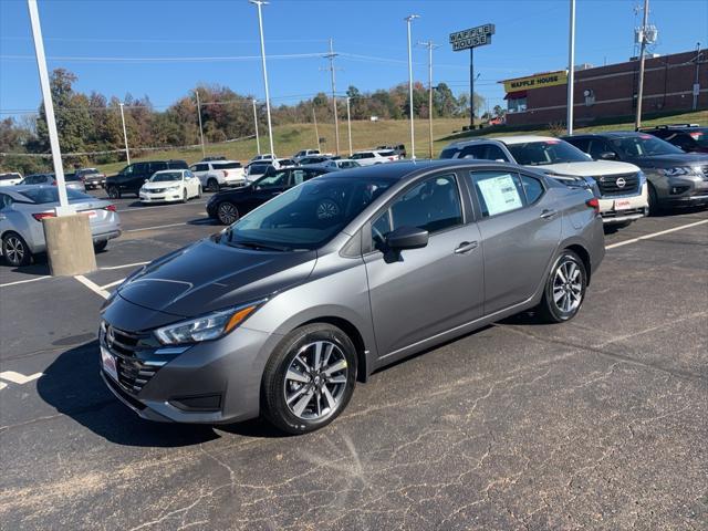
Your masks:
{"label": "long brick building with yellow Waffle House sign at upper right", "polygon": [[[698,69],[698,110],[708,108],[708,50],[675,53],[645,60],[643,114],[689,112]],[[636,112],[639,61],[575,70],[574,122],[632,116]],[[508,103],[507,125],[564,123],[566,71],[500,81]]]}

